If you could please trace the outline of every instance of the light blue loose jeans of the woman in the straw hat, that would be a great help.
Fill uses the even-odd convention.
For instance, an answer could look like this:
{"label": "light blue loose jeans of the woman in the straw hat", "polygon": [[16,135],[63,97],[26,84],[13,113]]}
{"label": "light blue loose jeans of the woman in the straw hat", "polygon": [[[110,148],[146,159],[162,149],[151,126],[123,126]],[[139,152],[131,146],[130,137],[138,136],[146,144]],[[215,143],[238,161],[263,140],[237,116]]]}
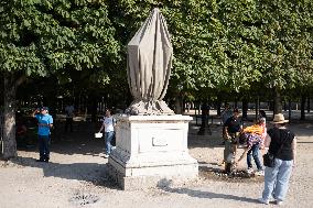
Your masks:
{"label": "light blue loose jeans of the woman in the straw hat", "polygon": [[283,201],[288,191],[289,178],[293,161],[276,158],[274,167],[266,167],[265,189],[262,198],[269,200],[272,195],[276,200]]}

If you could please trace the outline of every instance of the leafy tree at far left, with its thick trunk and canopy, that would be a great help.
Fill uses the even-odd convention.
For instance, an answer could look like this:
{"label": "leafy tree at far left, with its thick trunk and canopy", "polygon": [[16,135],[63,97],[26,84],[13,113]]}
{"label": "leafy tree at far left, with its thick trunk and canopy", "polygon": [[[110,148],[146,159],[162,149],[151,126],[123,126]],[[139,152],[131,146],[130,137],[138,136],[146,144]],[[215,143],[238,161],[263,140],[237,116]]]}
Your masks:
{"label": "leafy tree at far left, with its thick trunk and canopy", "polygon": [[118,62],[119,43],[105,1],[4,0],[0,2],[0,70],[4,77],[4,152],[17,155],[15,90],[26,77],[69,69],[98,70],[107,81],[107,64]]}

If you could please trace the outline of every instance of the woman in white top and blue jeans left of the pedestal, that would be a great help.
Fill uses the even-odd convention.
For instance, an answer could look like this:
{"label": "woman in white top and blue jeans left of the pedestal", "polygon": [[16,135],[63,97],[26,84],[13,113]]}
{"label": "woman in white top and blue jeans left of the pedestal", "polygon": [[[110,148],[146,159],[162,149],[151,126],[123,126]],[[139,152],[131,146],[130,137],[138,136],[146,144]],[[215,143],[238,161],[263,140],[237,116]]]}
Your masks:
{"label": "woman in white top and blue jeans left of the pedestal", "polygon": [[109,157],[110,153],[111,153],[111,141],[115,134],[115,119],[111,116],[111,111],[109,109],[106,110],[106,116],[104,117],[104,122],[102,125],[99,130],[99,132],[102,131],[102,129],[105,129],[105,141],[106,141],[106,154],[105,157]]}

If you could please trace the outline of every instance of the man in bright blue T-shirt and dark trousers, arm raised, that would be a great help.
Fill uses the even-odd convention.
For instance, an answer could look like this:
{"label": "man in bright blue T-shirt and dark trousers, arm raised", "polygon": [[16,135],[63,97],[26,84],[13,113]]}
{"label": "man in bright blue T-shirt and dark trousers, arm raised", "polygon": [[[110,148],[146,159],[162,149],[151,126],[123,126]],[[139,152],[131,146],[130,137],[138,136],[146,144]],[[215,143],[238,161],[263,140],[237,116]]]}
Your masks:
{"label": "man in bright blue T-shirt and dark trousers, arm raised", "polygon": [[42,107],[40,110],[36,109],[32,116],[37,119],[39,124],[39,149],[40,149],[40,160],[37,162],[48,162],[50,160],[50,130],[53,127],[53,118],[48,114],[48,108]]}

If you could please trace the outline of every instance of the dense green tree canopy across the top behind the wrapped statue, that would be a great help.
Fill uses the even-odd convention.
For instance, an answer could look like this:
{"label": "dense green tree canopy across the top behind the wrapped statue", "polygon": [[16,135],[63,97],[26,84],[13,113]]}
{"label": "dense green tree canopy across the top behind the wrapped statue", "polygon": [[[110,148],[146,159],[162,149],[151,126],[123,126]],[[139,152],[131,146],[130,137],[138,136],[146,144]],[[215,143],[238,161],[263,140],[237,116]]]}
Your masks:
{"label": "dense green tree canopy across the top behind the wrapped statue", "polygon": [[41,76],[86,94],[114,89],[123,96],[126,45],[154,7],[168,21],[174,47],[170,96],[312,90],[311,0],[3,0],[4,87]]}

